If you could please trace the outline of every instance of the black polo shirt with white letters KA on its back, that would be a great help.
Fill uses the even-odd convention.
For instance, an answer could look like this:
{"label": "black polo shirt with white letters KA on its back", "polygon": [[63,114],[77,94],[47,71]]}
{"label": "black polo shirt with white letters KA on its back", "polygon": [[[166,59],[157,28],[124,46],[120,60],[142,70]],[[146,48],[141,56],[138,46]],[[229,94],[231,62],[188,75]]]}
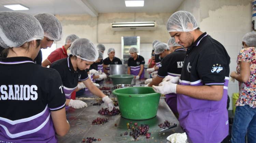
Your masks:
{"label": "black polo shirt with white letters KA on its back", "polygon": [[186,51],[183,48],[176,49],[174,52],[165,56],[158,68],[157,76],[164,78],[167,75],[181,76],[183,61]]}

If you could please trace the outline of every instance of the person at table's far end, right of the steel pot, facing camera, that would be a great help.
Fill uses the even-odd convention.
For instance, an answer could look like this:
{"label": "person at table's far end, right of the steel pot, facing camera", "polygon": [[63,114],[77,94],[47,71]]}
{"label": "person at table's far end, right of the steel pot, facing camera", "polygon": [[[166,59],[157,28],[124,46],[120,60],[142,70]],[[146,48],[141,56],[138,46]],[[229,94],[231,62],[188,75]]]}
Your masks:
{"label": "person at table's far end, right of the steel pot, facing camera", "polygon": [[129,49],[131,57],[127,63],[127,74],[136,76],[136,79],[144,78],[144,64],[145,60],[141,55],[137,54],[137,48],[131,47]]}

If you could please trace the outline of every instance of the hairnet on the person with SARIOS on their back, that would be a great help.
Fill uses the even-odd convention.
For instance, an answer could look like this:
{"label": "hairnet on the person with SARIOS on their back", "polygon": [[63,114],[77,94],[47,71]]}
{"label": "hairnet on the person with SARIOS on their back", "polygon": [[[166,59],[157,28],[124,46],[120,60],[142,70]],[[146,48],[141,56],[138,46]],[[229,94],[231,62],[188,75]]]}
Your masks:
{"label": "hairnet on the person with SARIOS on their back", "polygon": [[24,12],[0,12],[0,46],[20,47],[26,42],[44,38],[39,21]]}

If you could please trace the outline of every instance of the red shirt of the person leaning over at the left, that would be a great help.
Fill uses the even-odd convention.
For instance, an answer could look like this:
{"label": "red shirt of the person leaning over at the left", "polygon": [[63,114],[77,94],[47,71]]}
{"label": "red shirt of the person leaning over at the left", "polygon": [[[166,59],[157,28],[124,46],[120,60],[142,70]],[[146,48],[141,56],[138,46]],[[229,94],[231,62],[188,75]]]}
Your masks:
{"label": "red shirt of the person leaning over at the left", "polygon": [[63,59],[68,57],[67,51],[64,48],[64,46],[62,46],[62,48],[58,48],[56,50],[54,50],[53,52],[51,52],[48,57],[47,60],[52,64],[53,62],[59,60],[59,59]]}

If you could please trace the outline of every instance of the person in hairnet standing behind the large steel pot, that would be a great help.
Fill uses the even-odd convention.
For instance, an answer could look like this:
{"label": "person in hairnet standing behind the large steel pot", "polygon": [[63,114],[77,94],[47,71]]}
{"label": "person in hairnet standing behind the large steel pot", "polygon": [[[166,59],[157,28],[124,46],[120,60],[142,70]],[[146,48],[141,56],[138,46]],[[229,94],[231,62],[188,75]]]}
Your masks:
{"label": "person in hairnet standing behind the large steel pot", "polygon": [[103,70],[104,73],[109,74],[110,65],[122,65],[122,61],[119,58],[115,57],[115,49],[109,48],[108,50],[109,57],[103,60]]}

